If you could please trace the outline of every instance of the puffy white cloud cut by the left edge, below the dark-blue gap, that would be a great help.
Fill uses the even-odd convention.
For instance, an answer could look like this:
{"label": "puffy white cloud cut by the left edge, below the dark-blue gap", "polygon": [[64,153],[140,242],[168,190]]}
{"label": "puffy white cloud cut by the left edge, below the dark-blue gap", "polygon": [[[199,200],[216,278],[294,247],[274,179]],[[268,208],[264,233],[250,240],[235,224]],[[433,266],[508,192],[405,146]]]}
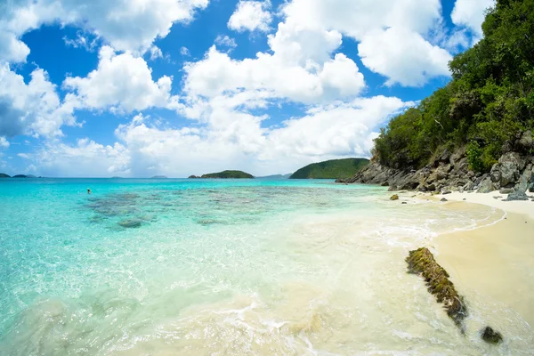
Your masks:
{"label": "puffy white cloud cut by the left edge, below the dark-blue gap", "polygon": [[43,69],[31,73],[28,85],[9,65],[0,65],[0,135],[61,135],[62,125],[76,125],[73,108],[61,103]]}

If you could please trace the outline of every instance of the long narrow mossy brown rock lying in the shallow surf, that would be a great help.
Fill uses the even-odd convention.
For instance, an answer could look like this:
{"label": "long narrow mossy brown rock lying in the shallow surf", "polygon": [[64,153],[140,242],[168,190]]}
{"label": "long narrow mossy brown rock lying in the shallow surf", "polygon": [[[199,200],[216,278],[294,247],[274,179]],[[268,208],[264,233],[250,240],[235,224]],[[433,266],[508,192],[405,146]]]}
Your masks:
{"label": "long narrow mossy brown rock lying in the shallow surf", "polygon": [[454,284],[449,280],[449,273],[445,271],[433,258],[428,248],[422,247],[410,251],[406,257],[410,273],[421,275],[428,286],[428,291],[436,297],[438,303],[443,303],[449,317],[458,327],[467,316],[467,309],[463,298],[458,295]]}

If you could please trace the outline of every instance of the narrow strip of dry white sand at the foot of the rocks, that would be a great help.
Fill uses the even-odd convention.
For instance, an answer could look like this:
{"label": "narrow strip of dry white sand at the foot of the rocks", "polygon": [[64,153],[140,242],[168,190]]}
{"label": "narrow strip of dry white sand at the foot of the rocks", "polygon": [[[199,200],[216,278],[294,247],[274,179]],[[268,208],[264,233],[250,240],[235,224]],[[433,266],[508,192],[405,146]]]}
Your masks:
{"label": "narrow strip of dry white sand at the foot of the rocks", "polygon": [[[531,196],[533,194],[527,193],[527,195]],[[504,210],[507,213],[528,215],[530,219],[534,220],[534,201],[531,201],[531,199],[525,201],[502,201],[503,199],[507,198],[507,195],[499,194],[497,190],[488,194],[453,192],[446,195],[435,195],[434,197],[447,198],[450,201],[466,201],[468,203],[493,206]]]}

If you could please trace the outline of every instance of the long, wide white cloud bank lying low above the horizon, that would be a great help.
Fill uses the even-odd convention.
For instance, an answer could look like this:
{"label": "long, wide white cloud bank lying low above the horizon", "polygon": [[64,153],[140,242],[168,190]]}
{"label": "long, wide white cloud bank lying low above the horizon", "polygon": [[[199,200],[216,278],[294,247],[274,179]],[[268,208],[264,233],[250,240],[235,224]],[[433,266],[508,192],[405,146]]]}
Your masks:
{"label": "long, wide white cloud bank lying low above the horizon", "polygon": [[169,128],[138,115],[117,127],[113,146],[88,139],[75,145],[49,142],[36,153],[36,165],[42,174],[63,176],[185,177],[229,168],[258,175],[290,172],[323,159],[368,156],[376,125],[414,104],[383,96],[339,101],[267,128],[268,117],[238,109],[261,98],[237,96],[212,99],[197,127]]}

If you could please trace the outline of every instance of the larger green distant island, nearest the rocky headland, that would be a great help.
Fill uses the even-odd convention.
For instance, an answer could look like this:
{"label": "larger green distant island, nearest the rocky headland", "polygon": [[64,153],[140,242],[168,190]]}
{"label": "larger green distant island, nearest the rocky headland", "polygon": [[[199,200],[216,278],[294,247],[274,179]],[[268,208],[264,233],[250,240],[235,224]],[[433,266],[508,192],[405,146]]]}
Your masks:
{"label": "larger green distant island, nearest the rocky headland", "polygon": [[360,169],[368,166],[366,158],[332,159],[325,162],[313,163],[305,166],[294,174],[290,179],[338,179],[352,177]]}

